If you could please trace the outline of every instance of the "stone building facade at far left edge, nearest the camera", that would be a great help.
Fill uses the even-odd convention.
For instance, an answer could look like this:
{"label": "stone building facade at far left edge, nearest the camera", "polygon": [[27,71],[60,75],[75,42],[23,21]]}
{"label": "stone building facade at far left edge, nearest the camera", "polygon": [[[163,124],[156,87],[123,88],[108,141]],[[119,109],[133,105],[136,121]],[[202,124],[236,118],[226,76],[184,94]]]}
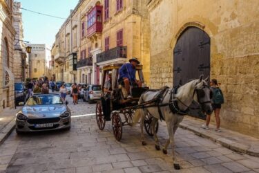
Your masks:
{"label": "stone building facade at far left edge, nearest the camera", "polygon": [[0,2],[0,112],[3,109],[14,106],[14,38],[15,28],[13,27],[12,0]]}

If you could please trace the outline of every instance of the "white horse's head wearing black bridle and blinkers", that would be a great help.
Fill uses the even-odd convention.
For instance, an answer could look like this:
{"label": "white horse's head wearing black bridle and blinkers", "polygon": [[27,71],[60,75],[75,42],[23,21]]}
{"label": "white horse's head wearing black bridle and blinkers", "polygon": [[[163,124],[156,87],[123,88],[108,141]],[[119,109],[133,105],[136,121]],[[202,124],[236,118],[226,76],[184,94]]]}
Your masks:
{"label": "white horse's head wearing black bridle and blinkers", "polygon": [[202,110],[211,115],[213,108],[211,106],[212,91],[208,85],[208,78],[203,80],[203,75],[200,76],[199,80],[195,80],[195,91],[193,94],[193,100],[198,102]]}

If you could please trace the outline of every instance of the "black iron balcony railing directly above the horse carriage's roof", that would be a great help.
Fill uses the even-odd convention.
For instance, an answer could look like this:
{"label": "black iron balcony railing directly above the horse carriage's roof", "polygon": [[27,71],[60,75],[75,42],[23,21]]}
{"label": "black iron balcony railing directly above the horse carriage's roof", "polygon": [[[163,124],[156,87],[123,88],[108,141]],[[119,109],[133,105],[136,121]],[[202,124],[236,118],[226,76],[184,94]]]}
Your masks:
{"label": "black iron balcony railing directly above the horse carriage's roof", "polygon": [[117,58],[127,58],[127,47],[126,46],[117,46],[111,48],[108,51],[97,54],[97,63],[105,62],[108,60],[115,60]]}

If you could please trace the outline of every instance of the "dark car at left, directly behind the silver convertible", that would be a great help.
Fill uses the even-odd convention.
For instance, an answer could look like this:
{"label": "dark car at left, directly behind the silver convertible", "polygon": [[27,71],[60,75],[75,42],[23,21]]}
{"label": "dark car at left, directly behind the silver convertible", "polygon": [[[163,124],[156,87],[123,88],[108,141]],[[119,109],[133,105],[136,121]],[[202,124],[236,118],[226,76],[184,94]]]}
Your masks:
{"label": "dark car at left, directly behind the silver convertible", "polygon": [[26,102],[28,99],[28,89],[24,82],[15,82],[15,104]]}

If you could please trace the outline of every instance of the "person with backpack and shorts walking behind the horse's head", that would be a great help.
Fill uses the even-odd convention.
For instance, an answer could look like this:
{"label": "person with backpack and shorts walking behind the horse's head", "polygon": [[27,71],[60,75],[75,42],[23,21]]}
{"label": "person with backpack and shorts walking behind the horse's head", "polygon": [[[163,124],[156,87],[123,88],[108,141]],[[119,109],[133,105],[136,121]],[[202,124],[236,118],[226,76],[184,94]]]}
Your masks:
{"label": "person with backpack and shorts walking behind the horse's head", "polygon": [[[213,107],[213,111],[215,114],[215,121],[216,121],[215,131],[220,132],[221,131],[220,130],[220,109],[221,109],[221,104],[224,103],[224,96],[223,96],[221,89],[218,86],[218,81],[215,79],[211,80],[211,89],[213,92],[211,105]],[[206,125],[202,125],[203,129],[209,129],[210,120],[211,120],[211,115],[207,115]]]}

